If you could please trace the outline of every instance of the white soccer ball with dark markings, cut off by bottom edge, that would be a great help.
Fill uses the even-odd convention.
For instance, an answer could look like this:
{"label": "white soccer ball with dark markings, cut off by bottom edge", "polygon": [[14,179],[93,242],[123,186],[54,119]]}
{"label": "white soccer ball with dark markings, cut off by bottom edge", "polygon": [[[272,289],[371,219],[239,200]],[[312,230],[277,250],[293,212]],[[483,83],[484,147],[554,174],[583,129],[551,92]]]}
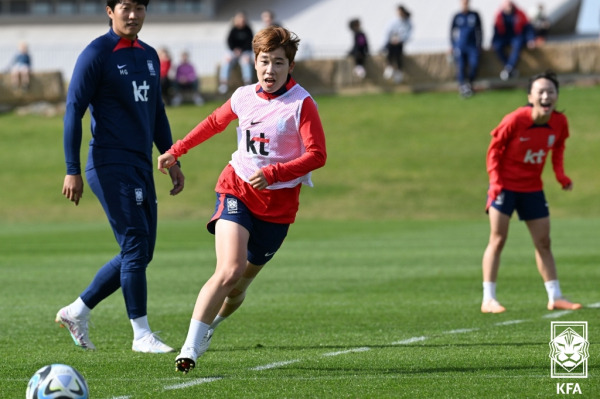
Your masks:
{"label": "white soccer ball with dark markings, cut off by bottom edge", "polygon": [[27,384],[26,399],[87,399],[85,379],[65,364],[51,364],[35,372]]}

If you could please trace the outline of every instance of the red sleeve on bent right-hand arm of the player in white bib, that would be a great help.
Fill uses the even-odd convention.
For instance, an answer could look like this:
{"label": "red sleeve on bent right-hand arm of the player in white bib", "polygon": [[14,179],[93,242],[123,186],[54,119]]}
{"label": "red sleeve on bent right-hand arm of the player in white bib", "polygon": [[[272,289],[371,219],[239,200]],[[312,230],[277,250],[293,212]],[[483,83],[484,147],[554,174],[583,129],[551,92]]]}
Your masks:
{"label": "red sleeve on bent right-hand arm of the player in white bib", "polygon": [[325,165],[325,132],[311,97],[306,97],[302,103],[299,130],[306,152],[292,161],[264,167],[262,171],[269,184],[293,180]]}

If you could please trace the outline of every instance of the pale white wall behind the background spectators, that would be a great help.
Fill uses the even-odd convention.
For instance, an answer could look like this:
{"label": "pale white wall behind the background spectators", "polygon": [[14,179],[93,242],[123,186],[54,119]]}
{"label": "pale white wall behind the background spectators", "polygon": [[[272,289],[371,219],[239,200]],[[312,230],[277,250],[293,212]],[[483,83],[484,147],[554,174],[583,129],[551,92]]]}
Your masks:
{"label": "pale white wall behind the background spectators", "polygon": [[[517,0],[524,10],[530,11],[542,0]],[[548,12],[565,1],[543,0]],[[302,7],[299,7],[299,3]],[[352,35],[347,23],[358,17],[368,36],[372,52],[383,45],[385,28],[394,17],[399,3],[412,11],[414,32],[406,46],[407,53],[446,51],[450,20],[459,8],[459,0],[253,0],[229,1],[221,11],[225,17],[240,4],[248,11],[253,29],[260,29],[260,11],[271,8],[277,19],[301,38],[299,58],[312,55],[316,58],[342,57],[349,50]],[[471,0],[472,8],[479,11],[484,24],[484,44],[489,46],[492,21],[500,0]],[[431,12],[430,10],[434,10]],[[150,7],[140,38],[154,47],[168,46],[175,60],[187,50],[202,75],[214,74],[225,48],[228,22],[158,24],[152,22]],[[586,31],[598,32],[600,1],[584,0],[581,10]],[[222,18],[225,20],[225,18]],[[107,19],[108,21],[108,19]],[[79,52],[95,37],[105,33],[108,24],[69,25],[65,27],[43,25],[0,26],[0,69],[4,70],[16,51],[16,44],[26,40],[32,53],[34,69],[60,70],[65,79],[71,71]]]}

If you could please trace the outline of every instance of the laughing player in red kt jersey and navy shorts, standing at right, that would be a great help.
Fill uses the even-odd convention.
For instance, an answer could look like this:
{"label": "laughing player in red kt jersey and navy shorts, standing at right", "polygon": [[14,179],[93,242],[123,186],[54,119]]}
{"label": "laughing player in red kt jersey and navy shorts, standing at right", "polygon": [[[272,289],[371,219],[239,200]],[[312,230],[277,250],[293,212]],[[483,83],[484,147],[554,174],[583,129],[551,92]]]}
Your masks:
{"label": "laughing player in red kt jersey and navy shorts, standing at right", "polygon": [[492,131],[487,153],[490,179],[486,210],[490,239],[483,254],[483,313],[502,313],[496,300],[500,254],[508,236],[514,210],[524,220],[535,246],[538,271],[548,293],[548,310],[581,308],[563,298],[556,264],[550,249],[550,214],[544,196],[542,170],[552,151],[552,167],[563,190],[573,182],[564,172],[563,155],[569,127],[564,114],[555,110],[558,80],[551,72],[529,80],[528,105],[509,113]]}

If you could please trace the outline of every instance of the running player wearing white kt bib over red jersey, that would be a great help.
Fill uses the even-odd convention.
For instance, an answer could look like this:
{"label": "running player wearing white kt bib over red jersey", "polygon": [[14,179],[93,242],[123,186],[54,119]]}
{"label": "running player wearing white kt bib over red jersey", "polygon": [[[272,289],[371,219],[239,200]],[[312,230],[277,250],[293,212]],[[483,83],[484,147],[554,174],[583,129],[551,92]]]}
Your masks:
{"label": "running player wearing white kt bib over red jersey", "polygon": [[300,187],[312,186],[310,172],[325,164],[325,134],[310,94],[291,76],[299,39],[271,26],[254,36],[258,84],[242,86],[158,158],[171,167],[177,158],[238,119],[238,148],[219,176],[215,213],[217,266],[204,284],[188,335],[175,359],[187,373],[210,344],[217,325],[242,304],[262,266],[277,252],[298,211]]}

